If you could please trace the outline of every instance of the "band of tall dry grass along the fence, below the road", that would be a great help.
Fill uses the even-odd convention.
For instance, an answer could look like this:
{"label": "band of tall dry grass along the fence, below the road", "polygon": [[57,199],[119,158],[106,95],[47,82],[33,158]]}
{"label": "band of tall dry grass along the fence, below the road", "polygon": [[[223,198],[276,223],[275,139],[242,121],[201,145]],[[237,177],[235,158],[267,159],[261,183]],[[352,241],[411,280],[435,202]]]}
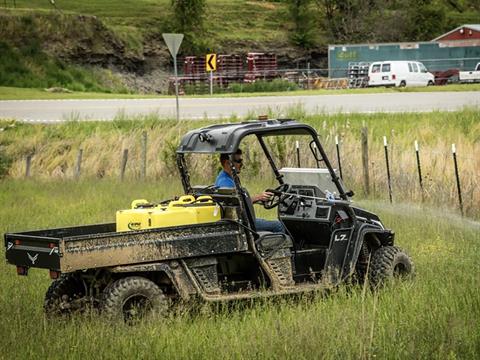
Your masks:
{"label": "band of tall dry grass along the fence, below the road", "polygon": [[[271,113],[271,117],[278,114]],[[338,167],[335,136],[340,139],[342,169],[347,187],[364,196],[361,128],[369,135],[370,196],[387,199],[383,136],[389,143],[393,198],[398,201],[422,201],[418,184],[414,141],[420,144],[424,194],[429,204],[458,208],[451,144],[457,146],[464,209],[468,216],[480,218],[478,169],[480,168],[480,119],[476,109],[457,112],[419,114],[338,114],[306,115],[302,108],[291,108],[283,117],[312,125],[320,134],[330,160]],[[250,119],[256,118],[252,114]],[[239,121],[231,118],[224,121]],[[31,175],[34,179],[71,179],[79,149],[83,149],[82,178],[118,178],[121,156],[129,149],[126,178],[137,179],[142,163],[142,133],[148,136],[148,177],[161,179],[177,174],[175,149],[180,137],[190,129],[215,123],[211,120],[182,121],[159,119],[156,115],[112,122],[66,122],[60,125],[27,125],[0,121],[0,176],[22,178],[25,157],[33,155]],[[306,139],[298,139],[302,166],[315,166]],[[295,139],[268,141],[281,166],[297,166]],[[268,164],[254,143],[246,145],[246,175],[270,178]],[[192,159],[200,170],[199,183],[210,183],[218,168],[216,157]]]}

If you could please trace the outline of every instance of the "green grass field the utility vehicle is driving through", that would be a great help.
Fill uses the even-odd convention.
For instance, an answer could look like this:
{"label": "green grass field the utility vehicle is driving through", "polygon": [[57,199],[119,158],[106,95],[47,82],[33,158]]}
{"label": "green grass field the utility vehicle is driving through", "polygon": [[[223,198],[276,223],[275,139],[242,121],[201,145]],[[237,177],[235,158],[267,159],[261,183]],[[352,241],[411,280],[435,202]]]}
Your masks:
{"label": "green grass field the utility vehicle is driving through", "polygon": [[[255,192],[266,184],[246,185]],[[178,181],[164,180],[3,180],[0,232],[113,221],[134,198],[159,200],[179,191]],[[19,277],[0,262],[0,358],[478,358],[480,224],[411,204],[361,205],[395,230],[397,245],[415,261],[415,279],[379,293],[342,287],[314,299],[203,306],[112,326],[95,314],[47,321],[47,272]]]}

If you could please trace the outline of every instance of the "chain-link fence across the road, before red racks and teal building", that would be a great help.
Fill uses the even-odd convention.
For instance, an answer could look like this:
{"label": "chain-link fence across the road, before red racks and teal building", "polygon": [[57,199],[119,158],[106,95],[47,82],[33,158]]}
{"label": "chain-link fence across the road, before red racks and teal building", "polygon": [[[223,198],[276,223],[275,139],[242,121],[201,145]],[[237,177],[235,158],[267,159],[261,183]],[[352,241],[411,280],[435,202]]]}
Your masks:
{"label": "chain-link fence across the road, before red racks and teal building", "polygon": [[[435,75],[435,84],[445,85],[458,83],[459,71],[473,70],[472,64],[480,62],[480,57],[403,60],[422,62],[427,70]],[[195,67],[186,66],[184,71],[180,72],[177,80],[181,94],[367,87],[368,66],[371,62],[350,62],[348,66],[340,68],[311,68],[309,62],[297,62],[294,67],[289,68],[277,68],[272,64],[250,66],[249,69],[231,66],[212,73],[207,72],[202,64]],[[365,70],[356,71],[355,67],[358,64]],[[362,81],[352,81],[354,79]],[[258,82],[276,83],[271,86],[253,85]],[[168,92],[173,93],[175,77],[169,77],[168,84]]]}

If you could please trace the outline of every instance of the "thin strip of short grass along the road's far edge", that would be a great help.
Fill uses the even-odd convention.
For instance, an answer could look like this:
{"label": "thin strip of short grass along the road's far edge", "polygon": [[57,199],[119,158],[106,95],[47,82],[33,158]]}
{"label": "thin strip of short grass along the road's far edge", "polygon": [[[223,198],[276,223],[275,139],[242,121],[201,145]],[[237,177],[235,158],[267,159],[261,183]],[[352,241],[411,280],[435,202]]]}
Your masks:
{"label": "thin strip of short grass along the road's far edge", "polygon": [[[252,97],[252,96],[305,96],[305,95],[343,95],[343,94],[376,94],[396,92],[443,92],[443,91],[480,91],[478,84],[452,84],[445,86],[428,86],[416,88],[365,88],[365,89],[341,89],[341,90],[295,90],[276,92],[241,92],[227,94],[213,94],[214,97]],[[161,95],[143,94],[115,94],[102,92],[52,93],[43,89],[19,88],[0,86],[0,100],[55,100],[55,99],[135,99],[135,98],[158,98]],[[196,95],[188,97],[210,97],[210,95]]]}

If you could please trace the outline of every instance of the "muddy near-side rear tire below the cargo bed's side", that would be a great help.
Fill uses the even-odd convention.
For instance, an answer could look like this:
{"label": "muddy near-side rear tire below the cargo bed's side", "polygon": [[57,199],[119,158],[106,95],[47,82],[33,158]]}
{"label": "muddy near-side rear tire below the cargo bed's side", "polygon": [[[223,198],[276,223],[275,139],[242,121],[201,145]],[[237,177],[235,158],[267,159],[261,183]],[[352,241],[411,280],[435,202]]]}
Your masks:
{"label": "muddy near-side rear tire below the cargo bed's side", "polygon": [[168,310],[168,300],[153,281],[141,276],[116,280],[103,291],[103,314],[112,320],[132,322]]}

